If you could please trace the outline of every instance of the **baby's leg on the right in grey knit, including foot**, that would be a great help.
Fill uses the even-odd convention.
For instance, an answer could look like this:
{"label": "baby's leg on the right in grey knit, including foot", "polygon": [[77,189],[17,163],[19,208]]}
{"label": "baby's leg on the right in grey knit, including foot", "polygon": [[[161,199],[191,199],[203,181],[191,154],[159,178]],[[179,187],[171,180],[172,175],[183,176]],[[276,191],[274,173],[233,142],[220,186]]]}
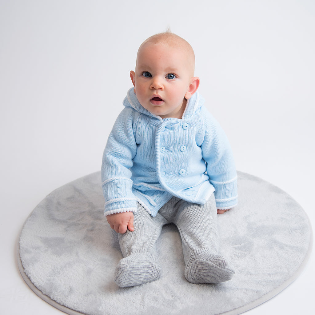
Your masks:
{"label": "baby's leg on the right in grey knit, including foot", "polygon": [[234,271],[218,255],[217,209],[214,195],[204,205],[177,203],[174,222],[183,243],[185,277],[191,283],[219,283],[230,280]]}

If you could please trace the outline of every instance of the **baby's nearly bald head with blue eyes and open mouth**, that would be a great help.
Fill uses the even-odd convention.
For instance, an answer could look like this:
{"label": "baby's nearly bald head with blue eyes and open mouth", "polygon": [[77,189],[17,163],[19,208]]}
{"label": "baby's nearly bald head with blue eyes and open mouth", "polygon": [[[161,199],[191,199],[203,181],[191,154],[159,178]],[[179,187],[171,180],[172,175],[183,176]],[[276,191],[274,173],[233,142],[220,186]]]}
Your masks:
{"label": "baby's nearly bald head with blue eyes and open mouth", "polygon": [[130,71],[140,104],[162,118],[181,118],[186,100],[199,86],[194,68],[193,49],[183,38],[170,32],[147,38],[138,50],[135,72]]}

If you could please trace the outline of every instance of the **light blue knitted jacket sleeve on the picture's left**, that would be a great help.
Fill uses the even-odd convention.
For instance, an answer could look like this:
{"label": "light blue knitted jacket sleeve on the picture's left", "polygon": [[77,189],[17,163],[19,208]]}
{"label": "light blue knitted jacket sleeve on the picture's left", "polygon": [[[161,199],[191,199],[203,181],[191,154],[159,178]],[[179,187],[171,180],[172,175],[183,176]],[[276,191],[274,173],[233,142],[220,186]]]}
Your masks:
{"label": "light blue knitted jacket sleeve on the picture's left", "polygon": [[117,117],[103,153],[101,180],[105,202],[104,215],[137,211],[132,193],[130,168],[137,152],[135,141],[137,115],[124,108]]}

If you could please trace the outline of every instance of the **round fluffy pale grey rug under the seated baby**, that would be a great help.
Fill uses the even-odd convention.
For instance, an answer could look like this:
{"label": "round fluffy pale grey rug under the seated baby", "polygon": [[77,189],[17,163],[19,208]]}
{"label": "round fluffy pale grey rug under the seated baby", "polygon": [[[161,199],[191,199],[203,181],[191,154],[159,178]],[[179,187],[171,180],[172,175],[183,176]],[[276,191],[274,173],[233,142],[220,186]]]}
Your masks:
{"label": "round fluffy pale grey rug under the seated baby", "polygon": [[116,233],[103,216],[100,172],[49,194],[20,235],[20,272],[43,300],[68,314],[240,314],[288,286],[303,269],[312,229],[288,194],[238,172],[238,206],[218,215],[221,253],[236,274],[222,284],[191,284],[184,277],[176,226],[157,242],[163,276],[119,288],[113,281],[122,258]]}

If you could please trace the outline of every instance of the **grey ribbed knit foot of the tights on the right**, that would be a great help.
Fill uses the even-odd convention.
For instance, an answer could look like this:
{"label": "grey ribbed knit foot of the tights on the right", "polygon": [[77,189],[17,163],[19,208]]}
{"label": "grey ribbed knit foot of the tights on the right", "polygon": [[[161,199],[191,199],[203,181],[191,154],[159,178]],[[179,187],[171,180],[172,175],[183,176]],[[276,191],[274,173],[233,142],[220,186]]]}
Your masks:
{"label": "grey ribbed knit foot of the tights on the right", "polygon": [[190,261],[185,269],[185,277],[194,284],[225,282],[234,275],[232,268],[220,255],[200,254],[191,257]]}

